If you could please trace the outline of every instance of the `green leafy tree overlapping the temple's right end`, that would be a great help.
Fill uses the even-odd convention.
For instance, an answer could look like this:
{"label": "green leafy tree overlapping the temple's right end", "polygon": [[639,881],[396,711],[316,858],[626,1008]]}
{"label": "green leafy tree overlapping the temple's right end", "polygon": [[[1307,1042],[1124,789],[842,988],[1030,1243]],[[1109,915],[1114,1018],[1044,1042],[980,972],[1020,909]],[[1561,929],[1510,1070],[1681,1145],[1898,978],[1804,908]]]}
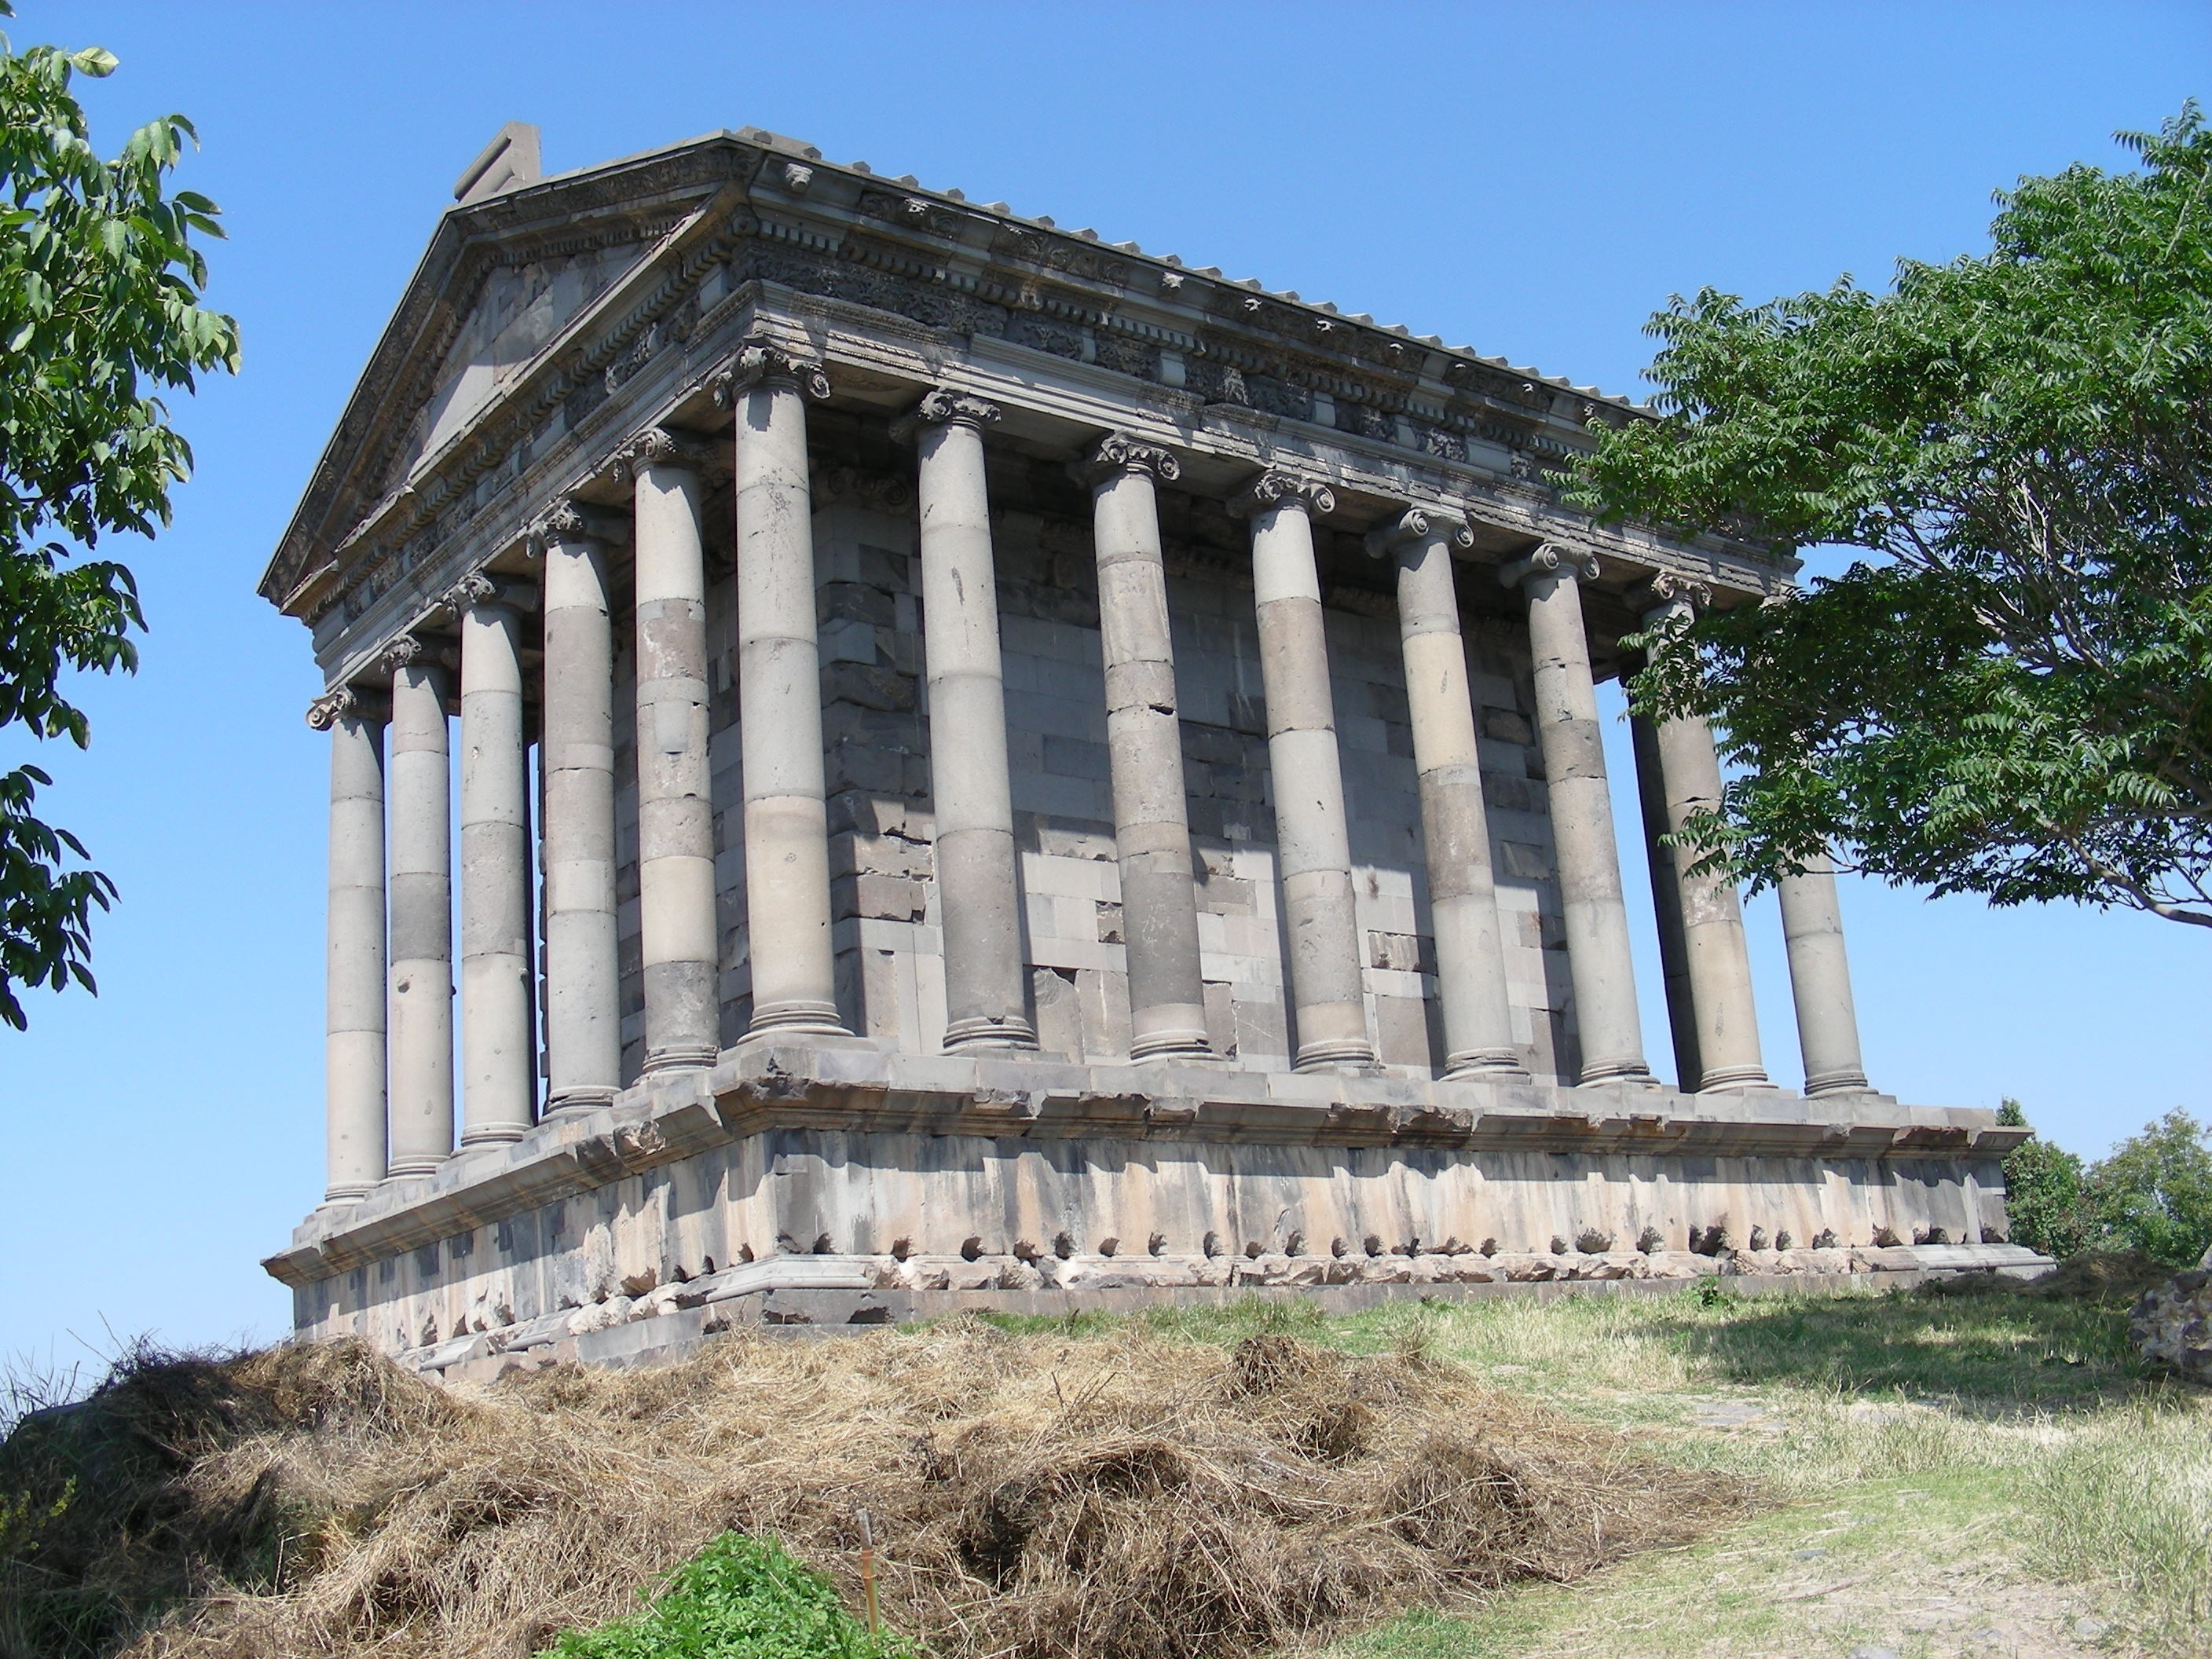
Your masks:
{"label": "green leafy tree overlapping the temple's right end", "polygon": [[1677,296],[1661,416],[1566,469],[1606,518],[1867,553],[1646,637],[1637,703],[1739,768],[1708,867],[2212,925],[2212,131],[2119,142],[1885,294]]}

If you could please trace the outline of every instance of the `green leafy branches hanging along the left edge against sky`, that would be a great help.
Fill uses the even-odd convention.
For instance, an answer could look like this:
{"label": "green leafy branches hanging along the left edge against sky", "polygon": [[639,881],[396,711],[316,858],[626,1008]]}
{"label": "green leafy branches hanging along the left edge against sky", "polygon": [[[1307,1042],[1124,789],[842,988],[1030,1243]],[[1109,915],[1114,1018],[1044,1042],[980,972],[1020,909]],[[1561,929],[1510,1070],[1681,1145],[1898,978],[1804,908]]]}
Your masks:
{"label": "green leafy branches hanging along the left edge against sky", "polygon": [[[166,524],[192,465],[155,389],[239,363],[237,323],[199,303],[192,237],[223,234],[217,208],[164,195],[192,124],[164,115],[102,161],[71,77],[113,69],[100,46],[18,53],[0,35],[0,730],[77,748],[91,728],[64,675],[135,670],[144,628],[131,571],[88,551]],[[93,989],[91,918],[115,896],[66,867],[86,854],[38,816],[49,783],[29,763],[0,772],[0,1020],[15,1029],[20,987]]]}

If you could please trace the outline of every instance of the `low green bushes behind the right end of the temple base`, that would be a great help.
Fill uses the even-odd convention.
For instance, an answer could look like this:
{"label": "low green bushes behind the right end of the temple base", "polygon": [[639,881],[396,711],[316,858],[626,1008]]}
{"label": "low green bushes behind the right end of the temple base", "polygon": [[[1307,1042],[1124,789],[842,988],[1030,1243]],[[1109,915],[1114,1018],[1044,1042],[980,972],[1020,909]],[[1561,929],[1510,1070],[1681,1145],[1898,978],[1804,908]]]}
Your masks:
{"label": "low green bushes behind the right end of the temple base", "polygon": [[[2008,1099],[1997,1121],[2028,1119]],[[2181,1108],[2088,1166],[2048,1141],[2024,1141],[2004,1159],[2004,1190],[2013,1241],[2046,1256],[2137,1250],[2188,1267],[2212,1248],[2212,1133]]]}

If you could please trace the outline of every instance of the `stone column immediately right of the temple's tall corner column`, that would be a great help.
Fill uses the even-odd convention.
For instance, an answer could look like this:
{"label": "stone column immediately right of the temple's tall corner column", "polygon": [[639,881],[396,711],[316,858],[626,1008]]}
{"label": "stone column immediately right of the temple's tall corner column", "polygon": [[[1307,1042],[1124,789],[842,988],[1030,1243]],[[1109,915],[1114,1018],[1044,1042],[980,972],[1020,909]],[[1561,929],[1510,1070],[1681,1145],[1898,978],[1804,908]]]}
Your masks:
{"label": "stone column immediately right of the temple's tall corner column", "polygon": [[1006,779],[1006,686],[982,429],[998,405],[931,392],[914,411],[922,453],[922,657],[929,794],[945,925],[945,1046],[1035,1048],[1022,995],[1022,898]]}

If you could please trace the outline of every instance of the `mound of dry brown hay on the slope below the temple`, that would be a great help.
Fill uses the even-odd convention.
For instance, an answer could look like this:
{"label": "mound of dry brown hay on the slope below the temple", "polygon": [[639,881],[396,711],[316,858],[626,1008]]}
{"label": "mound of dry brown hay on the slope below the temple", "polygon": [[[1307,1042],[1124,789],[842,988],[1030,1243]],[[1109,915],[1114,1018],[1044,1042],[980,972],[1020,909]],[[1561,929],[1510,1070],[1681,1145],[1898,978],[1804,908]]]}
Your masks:
{"label": "mound of dry brown hay on the slope below the temple", "polygon": [[1420,1354],[1141,1327],[730,1336],[456,1394],[343,1343],[144,1365],[18,1433],[0,1491],[117,1433],[128,1493],[64,1517],[44,1571],[192,1597],[150,1626],[139,1597],[131,1659],[524,1659],[726,1528],[856,1604],[860,1509],[885,1617],[933,1652],[1232,1659],[1571,1579],[1750,1502]]}

